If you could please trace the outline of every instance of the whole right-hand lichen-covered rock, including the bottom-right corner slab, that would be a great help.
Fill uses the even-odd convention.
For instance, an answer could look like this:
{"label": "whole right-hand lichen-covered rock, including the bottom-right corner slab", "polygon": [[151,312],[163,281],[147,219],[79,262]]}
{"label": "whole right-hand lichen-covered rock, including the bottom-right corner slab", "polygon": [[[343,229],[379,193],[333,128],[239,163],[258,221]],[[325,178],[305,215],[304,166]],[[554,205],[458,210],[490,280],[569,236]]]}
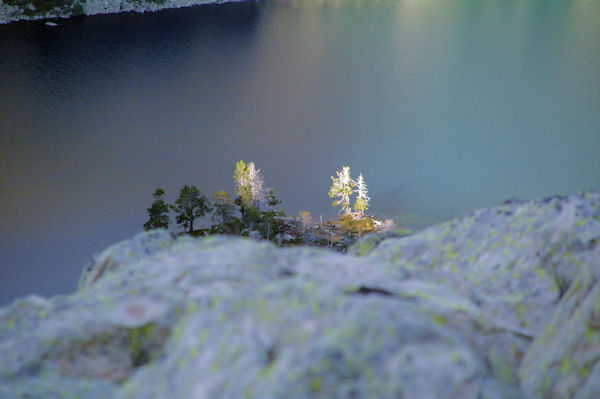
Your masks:
{"label": "whole right-hand lichen-covered rock, including the bottom-right corner slab", "polygon": [[599,243],[600,195],[582,193],[475,211],[387,240],[369,258],[465,284],[487,317],[535,338],[519,363],[525,397],[592,399],[600,397]]}

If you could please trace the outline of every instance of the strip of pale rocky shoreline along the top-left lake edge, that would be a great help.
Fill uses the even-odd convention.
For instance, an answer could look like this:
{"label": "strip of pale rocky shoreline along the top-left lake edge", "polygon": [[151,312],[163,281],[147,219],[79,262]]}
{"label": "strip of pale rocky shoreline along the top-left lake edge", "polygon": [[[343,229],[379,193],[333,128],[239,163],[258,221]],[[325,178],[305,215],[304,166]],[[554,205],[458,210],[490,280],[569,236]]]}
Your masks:
{"label": "strip of pale rocky shoreline along the top-left lake edge", "polygon": [[245,0],[0,0],[0,24],[240,1]]}

